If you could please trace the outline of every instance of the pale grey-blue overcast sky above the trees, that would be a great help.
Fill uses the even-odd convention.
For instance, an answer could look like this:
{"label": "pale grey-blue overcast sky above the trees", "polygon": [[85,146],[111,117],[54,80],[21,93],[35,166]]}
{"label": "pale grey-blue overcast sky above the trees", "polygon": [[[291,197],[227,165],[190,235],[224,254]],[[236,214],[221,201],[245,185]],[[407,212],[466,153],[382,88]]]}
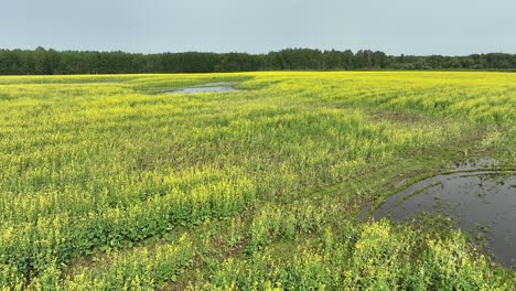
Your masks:
{"label": "pale grey-blue overcast sky above the trees", "polygon": [[516,53],[516,0],[0,0],[0,47]]}

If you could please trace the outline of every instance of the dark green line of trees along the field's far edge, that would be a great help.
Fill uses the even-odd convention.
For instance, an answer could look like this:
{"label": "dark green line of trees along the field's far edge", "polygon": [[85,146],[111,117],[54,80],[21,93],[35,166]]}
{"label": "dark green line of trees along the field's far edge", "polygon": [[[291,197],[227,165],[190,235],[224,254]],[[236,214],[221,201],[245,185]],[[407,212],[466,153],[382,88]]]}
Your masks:
{"label": "dark green line of trees along the field's far edge", "polygon": [[516,54],[387,55],[361,50],[286,48],[267,54],[0,50],[0,75],[213,73],[248,71],[488,69],[516,71]]}

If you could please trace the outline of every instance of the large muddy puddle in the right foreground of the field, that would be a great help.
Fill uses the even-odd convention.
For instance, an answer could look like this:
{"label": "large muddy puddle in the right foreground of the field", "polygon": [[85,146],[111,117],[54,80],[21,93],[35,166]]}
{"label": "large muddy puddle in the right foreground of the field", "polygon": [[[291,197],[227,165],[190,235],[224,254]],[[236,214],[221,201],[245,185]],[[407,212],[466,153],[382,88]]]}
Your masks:
{"label": "large muddy puddle in the right foreground of the field", "polygon": [[485,238],[497,262],[515,268],[516,175],[488,170],[495,165],[488,160],[456,164],[458,172],[420,181],[388,197],[373,216],[400,222],[419,213],[445,214],[461,230]]}

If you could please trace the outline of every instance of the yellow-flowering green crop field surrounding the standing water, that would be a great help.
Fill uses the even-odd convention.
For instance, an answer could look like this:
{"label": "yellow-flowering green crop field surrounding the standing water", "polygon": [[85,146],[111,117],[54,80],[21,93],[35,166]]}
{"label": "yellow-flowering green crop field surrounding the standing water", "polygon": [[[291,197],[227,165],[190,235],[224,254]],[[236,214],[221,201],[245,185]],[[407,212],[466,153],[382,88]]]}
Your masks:
{"label": "yellow-flowering green crop field surrounding the standing water", "polygon": [[359,219],[514,168],[516,74],[0,77],[0,290],[516,288],[448,217]]}

